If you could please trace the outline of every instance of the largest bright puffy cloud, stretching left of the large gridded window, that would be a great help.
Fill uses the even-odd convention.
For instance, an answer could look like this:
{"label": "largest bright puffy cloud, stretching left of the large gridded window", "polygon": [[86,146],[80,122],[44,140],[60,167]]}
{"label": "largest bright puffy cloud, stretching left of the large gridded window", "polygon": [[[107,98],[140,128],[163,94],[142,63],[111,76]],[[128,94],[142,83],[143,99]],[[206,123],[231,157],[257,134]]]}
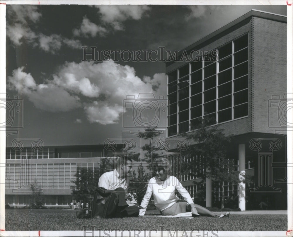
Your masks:
{"label": "largest bright puffy cloud, stretching left of the large gridded window", "polygon": [[[37,107],[47,111],[69,111],[82,106],[91,123],[103,125],[120,121],[123,100],[127,95],[137,98],[139,93],[164,93],[165,74],[152,78],[135,75],[133,67],[108,62],[66,62],[45,83],[36,84],[24,67],[8,76],[8,88],[29,98]],[[165,80],[165,81],[164,81]],[[166,92],[165,92],[166,94]],[[79,120],[76,120],[78,122]]]}

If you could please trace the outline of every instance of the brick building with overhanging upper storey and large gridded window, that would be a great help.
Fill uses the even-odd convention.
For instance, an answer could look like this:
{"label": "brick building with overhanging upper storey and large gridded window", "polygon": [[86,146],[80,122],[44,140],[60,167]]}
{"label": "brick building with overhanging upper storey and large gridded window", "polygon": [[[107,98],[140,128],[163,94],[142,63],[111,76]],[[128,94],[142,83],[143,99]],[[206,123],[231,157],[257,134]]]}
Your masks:
{"label": "brick building with overhanging upper storey and large gridded window", "polygon": [[[225,198],[238,195],[241,210],[253,208],[248,195],[254,205],[269,197],[272,208],[287,209],[286,30],[286,16],[251,10],[180,51],[189,60],[166,63],[169,151],[207,115],[234,134],[229,152],[239,171],[255,177],[254,187],[224,184]],[[180,176],[192,196],[197,178]],[[206,180],[204,188],[206,206],[217,205],[219,184]]]}

